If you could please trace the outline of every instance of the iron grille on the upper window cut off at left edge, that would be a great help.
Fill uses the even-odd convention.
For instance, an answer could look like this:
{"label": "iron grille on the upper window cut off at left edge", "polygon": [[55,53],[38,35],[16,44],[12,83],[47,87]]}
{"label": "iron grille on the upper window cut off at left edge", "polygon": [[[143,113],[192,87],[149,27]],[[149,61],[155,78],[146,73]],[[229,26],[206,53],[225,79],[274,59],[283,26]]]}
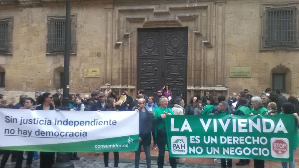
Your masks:
{"label": "iron grille on the upper window cut off at left edge", "polygon": [[9,53],[10,49],[10,23],[0,22],[0,52]]}

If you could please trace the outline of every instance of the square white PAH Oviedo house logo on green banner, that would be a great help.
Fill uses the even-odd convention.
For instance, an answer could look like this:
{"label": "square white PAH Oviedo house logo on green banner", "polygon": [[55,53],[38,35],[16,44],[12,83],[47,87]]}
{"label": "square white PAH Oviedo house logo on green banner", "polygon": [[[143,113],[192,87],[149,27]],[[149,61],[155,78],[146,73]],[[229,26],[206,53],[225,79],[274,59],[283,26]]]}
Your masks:
{"label": "square white PAH Oviedo house logo on green banner", "polygon": [[171,137],[171,152],[176,155],[185,155],[188,152],[187,137],[172,136]]}

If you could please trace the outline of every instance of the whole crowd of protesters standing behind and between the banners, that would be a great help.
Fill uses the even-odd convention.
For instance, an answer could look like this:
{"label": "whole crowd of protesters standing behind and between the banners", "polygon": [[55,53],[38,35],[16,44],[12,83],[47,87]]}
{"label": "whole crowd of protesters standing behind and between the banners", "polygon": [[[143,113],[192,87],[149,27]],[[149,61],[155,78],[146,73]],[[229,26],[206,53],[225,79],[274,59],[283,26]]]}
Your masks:
{"label": "whole crowd of protesters standing behind and between the banners", "polygon": [[[71,110],[71,111],[132,111],[139,112],[139,129],[140,137],[138,142],[139,148],[135,151],[135,168],[139,167],[140,153],[144,150],[147,161],[147,168],[151,167],[150,145],[153,138],[152,149],[158,148],[158,167],[164,166],[165,146],[168,143],[166,137],[166,129],[164,118],[167,115],[275,115],[275,114],[293,114],[296,118],[294,149],[298,147],[299,135],[299,101],[290,94],[286,99],[280,90],[271,91],[266,88],[259,96],[248,94],[248,89],[243,92],[233,92],[231,98],[226,100],[224,95],[213,94],[211,91],[205,91],[205,95],[200,98],[193,96],[189,102],[182,98],[176,98],[172,109],[168,108],[172,99],[172,91],[169,86],[165,85],[161,90],[157,91],[156,96],[147,95],[144,90],[139,90],[135,99],[128,95],[128,91],[124,90],[119,93],[118,89],[111,88],[107,85],[107,89],[103,92],[92,92],[81,97],[80,94],[69,94],[69,106],[62,106],[62,89],[58,88],[55,94],[42,93],[36,91],[35,100],[27,95],[20,95],[19,103],[13,105],[7,103],[0,94],[0,108],[13,109],[31,109],[31,110]],[[143,146],[143,149],[142,147]],[[113,151],[112,151],[113,152]],[[3,151],[4,156],[1,160],[0,168],[4,168],[8,157],[12,154],[11,161],[16,161],[15,168],[22,167],[23,151]],[[114,167],[118,167],[119,153],[114,153]],[[98,156],[99,153],[95,153]],[[105,167],[108,167],[109,152],[103,152]],[[54,164],[55,152],[40,152],[40,167],[51,168]],[[31,167],[33,152],[28,152],[28,158],[25,168]],[[72,160],[79,160],[77,153],[71,155]],[[214,159],[215,162],[221,163],[221,168],[231,168],[232,159]],[[169,158],[172,168],[176,168],[177,164],[182,164],[179,158]],[[237,165],[245,166],[250,160],[240,159]],[[295,162],[282,162],[282,167],[295,168]],[[254,168],[264,168],[264,161],[254,159]]]}

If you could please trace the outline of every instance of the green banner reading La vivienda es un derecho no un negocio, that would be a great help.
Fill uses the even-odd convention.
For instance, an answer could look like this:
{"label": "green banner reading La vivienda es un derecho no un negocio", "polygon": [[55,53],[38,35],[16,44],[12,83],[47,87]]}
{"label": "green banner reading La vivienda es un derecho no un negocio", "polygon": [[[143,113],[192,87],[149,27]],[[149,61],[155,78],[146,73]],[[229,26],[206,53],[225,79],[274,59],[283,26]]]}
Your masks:
{"label": "green banner reading La vivienda es un derecho no un negocio", "polygon": [[293,160],[295,118],[286,115],[168,115],[170,157]]}

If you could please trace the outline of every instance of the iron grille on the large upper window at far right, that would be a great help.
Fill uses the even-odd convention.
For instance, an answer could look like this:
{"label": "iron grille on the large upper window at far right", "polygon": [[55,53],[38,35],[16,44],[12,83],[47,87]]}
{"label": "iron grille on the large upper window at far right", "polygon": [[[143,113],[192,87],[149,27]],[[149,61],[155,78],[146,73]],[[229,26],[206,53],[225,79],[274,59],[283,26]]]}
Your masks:
{"label": "iron grille on the large upper window at far right", "polygon": [[266,44],[271,46],[297,45],[297,9],[274,8],[267,11]]}

